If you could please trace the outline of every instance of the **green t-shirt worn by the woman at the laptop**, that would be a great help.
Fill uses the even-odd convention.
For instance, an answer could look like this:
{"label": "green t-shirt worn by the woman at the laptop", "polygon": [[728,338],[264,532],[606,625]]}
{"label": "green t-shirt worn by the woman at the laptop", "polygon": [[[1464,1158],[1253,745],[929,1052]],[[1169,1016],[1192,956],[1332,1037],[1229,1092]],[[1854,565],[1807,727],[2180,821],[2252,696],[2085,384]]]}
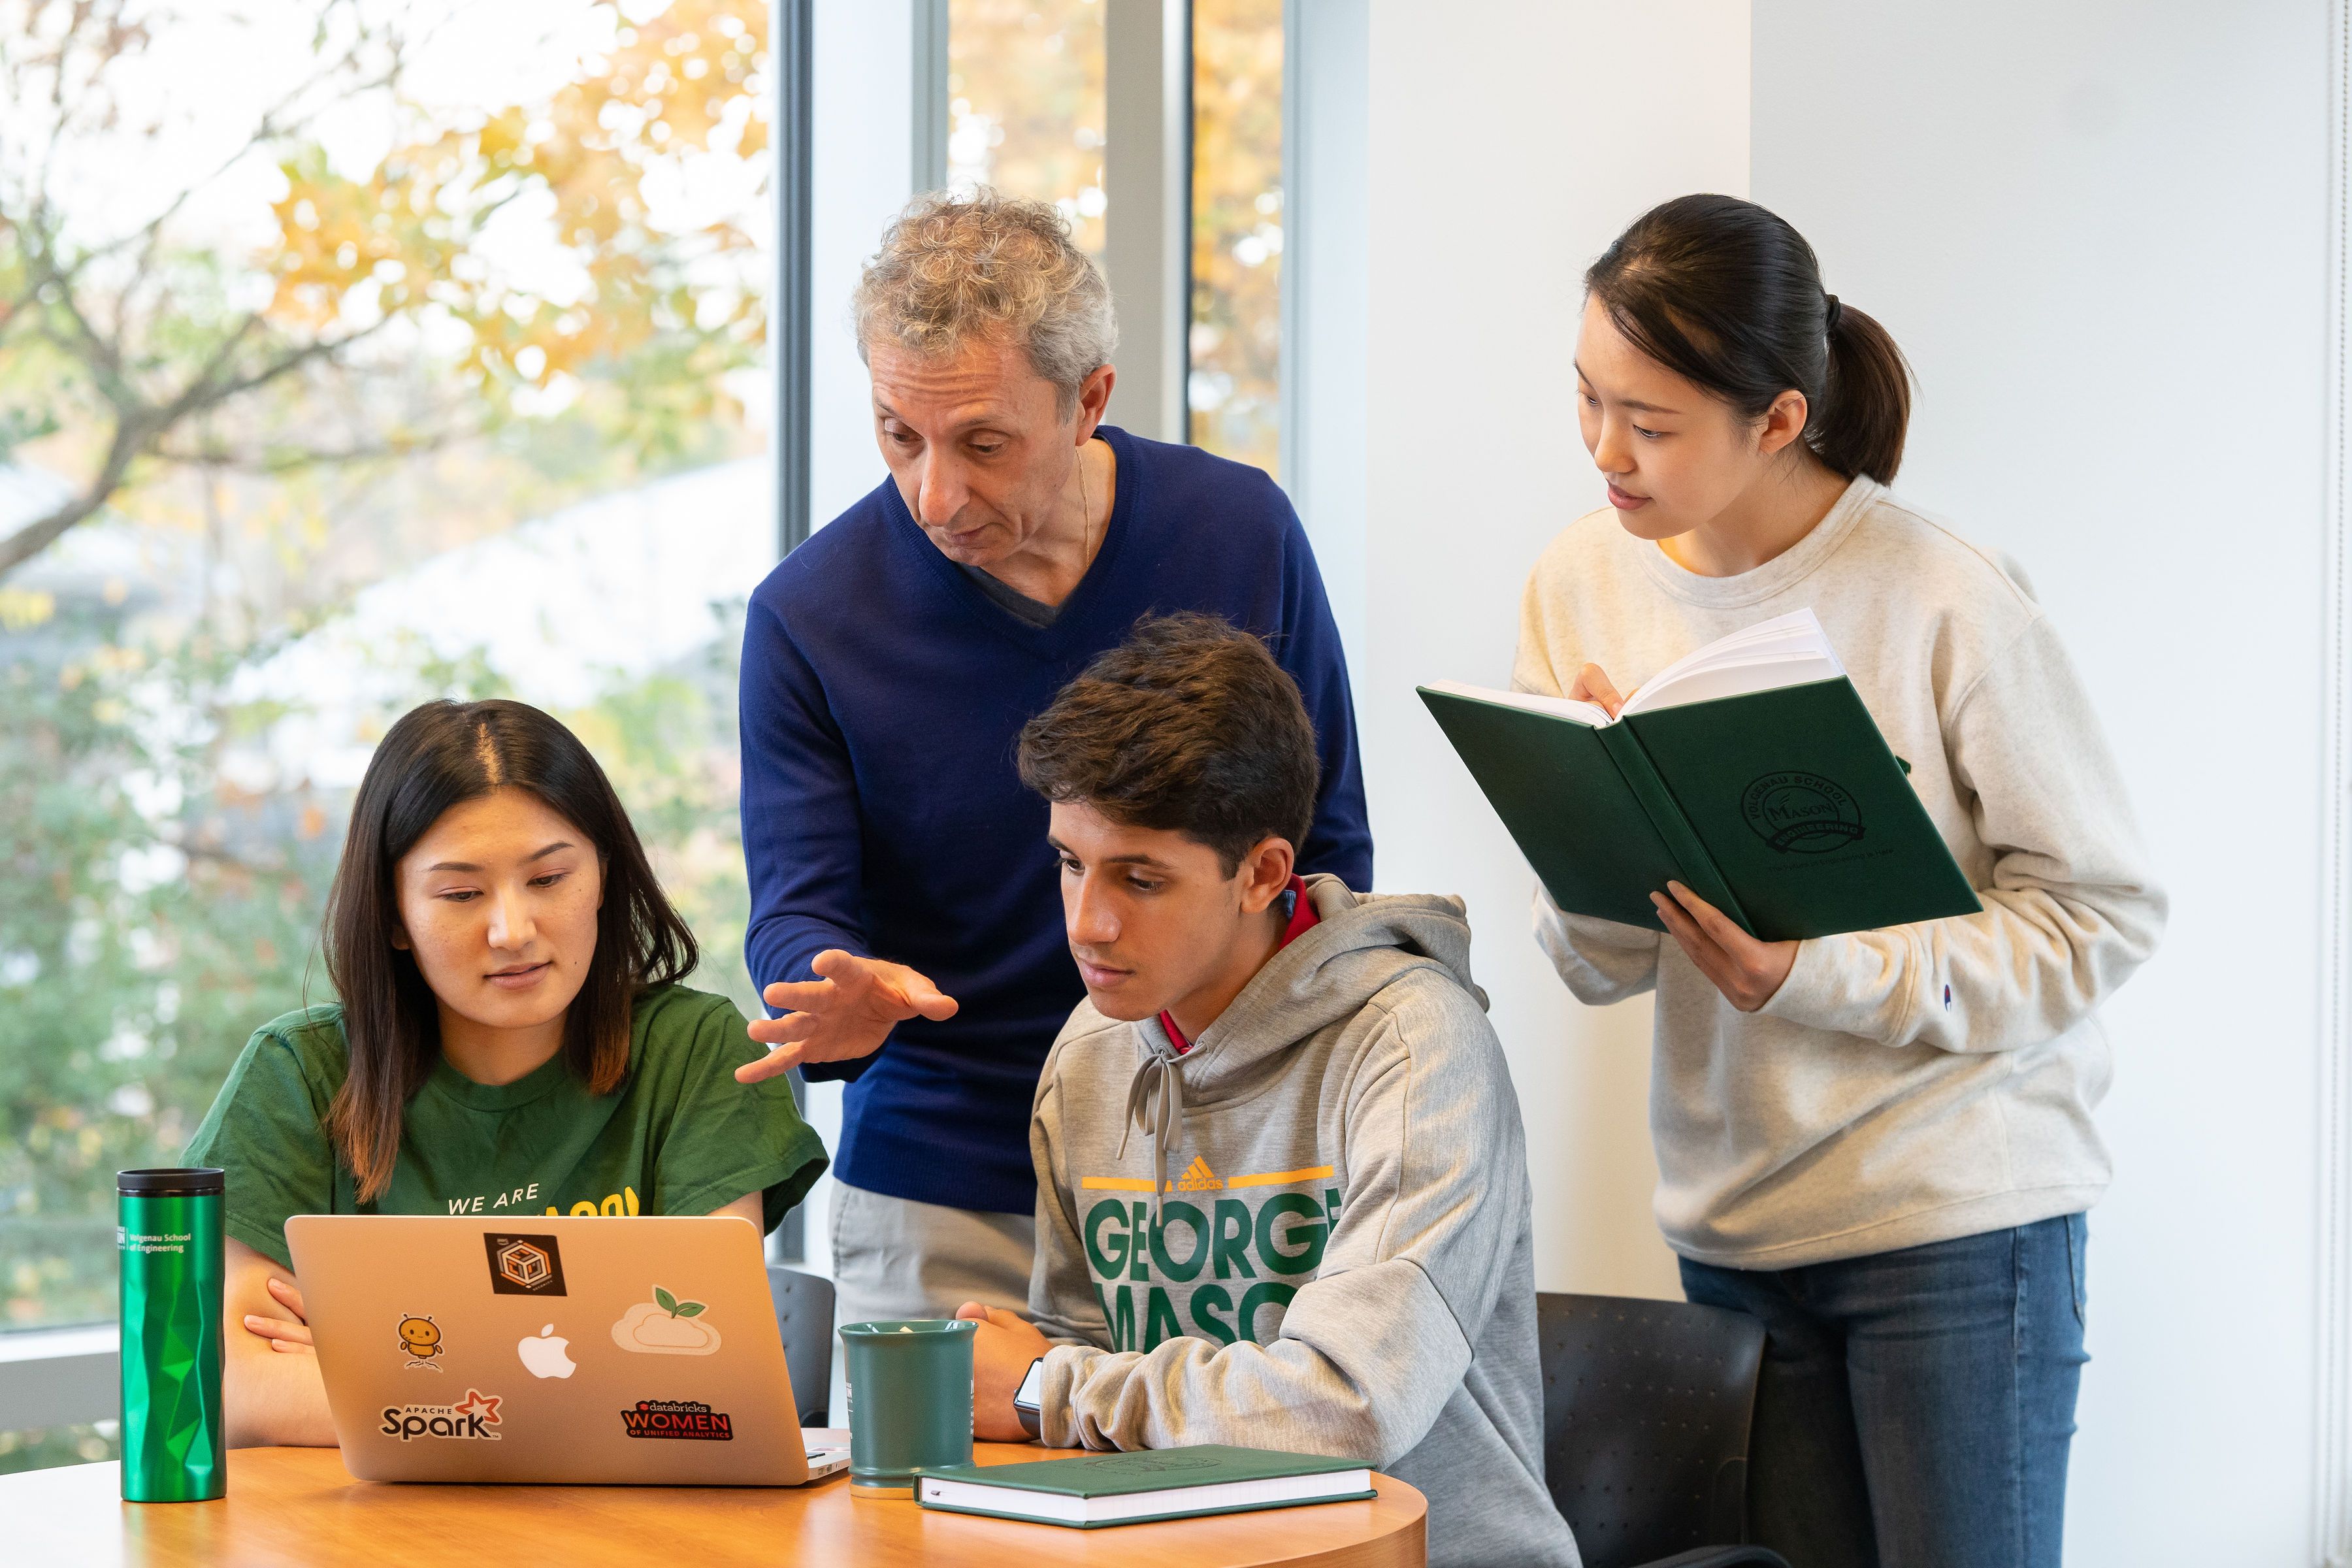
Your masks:
{"label": "green t-shirt worn by the woman at the laptop", "polygon": [[781,1077],[734,1081],[757,1058],[727,997],[661,985],[637,997],[609,1095],[562,1053],[496,1086],[437,1063],[402,1117],[390,1187],[362,1204],[327,1140],[350,1067],[343,1009],[315,1006],[245,1041],[186,1159],[228,1173],[228,1234],[287,1267],[296,1213],[710,1213],[760,1192],[774,1229],[826,1173],[826,1145]]}

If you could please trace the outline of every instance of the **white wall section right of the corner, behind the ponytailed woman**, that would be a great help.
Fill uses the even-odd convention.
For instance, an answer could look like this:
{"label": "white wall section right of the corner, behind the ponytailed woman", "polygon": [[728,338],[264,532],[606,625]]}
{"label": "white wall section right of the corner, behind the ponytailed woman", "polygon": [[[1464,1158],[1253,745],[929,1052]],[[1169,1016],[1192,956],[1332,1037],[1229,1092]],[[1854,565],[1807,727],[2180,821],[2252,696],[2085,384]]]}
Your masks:
{"label": "white wall section right of the corner, behind the ponytailed woman", "polygon": [[2310,1561],[2326,47],[1755,7],[1755,197],[1910,353],[1900,491],[2025,562],[2173,896],[2107,1009],[2070,1563]]}

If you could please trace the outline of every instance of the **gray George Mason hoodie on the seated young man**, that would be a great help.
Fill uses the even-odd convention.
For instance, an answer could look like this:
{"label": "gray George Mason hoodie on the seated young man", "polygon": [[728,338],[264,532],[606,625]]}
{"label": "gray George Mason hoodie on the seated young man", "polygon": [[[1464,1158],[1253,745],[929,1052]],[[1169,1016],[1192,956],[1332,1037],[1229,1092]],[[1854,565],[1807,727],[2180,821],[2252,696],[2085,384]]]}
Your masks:
{"label": "gray George Mason hoodie on the seated young man", "polygon": [[1188,1056],[1084,1001],[1054,1041],[1030,1117],[1044,1441],[1350,1455],[1428,1495],[1430,1563],[1573,1568],[1543,1486],[1526,1135],[1463,905],[1308,896],[1319,924]]}

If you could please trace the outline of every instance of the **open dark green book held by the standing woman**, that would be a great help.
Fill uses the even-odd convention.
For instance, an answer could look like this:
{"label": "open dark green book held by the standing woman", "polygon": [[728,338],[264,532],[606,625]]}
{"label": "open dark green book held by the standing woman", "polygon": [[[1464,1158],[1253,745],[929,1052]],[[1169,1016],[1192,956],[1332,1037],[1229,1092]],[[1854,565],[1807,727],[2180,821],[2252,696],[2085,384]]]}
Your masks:
{"label": "open dark green book held by the standing woman", "polygon": [[1613,719],[1461,682],[1421,701],[1571,914],[1663,931],[1668,877],[1766,943],[1983,907],[1809,609],[1668,665]]}

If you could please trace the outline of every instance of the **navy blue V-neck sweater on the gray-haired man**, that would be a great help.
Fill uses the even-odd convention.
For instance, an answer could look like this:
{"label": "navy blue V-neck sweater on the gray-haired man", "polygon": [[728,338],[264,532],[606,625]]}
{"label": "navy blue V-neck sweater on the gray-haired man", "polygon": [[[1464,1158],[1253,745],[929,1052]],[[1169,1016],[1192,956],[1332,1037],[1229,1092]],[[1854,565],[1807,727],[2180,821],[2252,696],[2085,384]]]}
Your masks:
{"label": "navy blue V-neck sweater on the gray-haired man", "polygon": [[1084,987],[1061,929],[1021,726],[1138,616],[1197,609],[1270,639],[1305,693],[1322,795],[1303,870],[1371,886],[1348,668],[1289,498],[1256,468],[1103,428],[1117,496],[1054,625],[993,604],[884,480],[750,597],[743,628],[746,959],[764,990],[826,947],[910,964],[962,1009],[898,1025],[847,1077],[833,1173],[1030,1213],[1030,1098]]}

